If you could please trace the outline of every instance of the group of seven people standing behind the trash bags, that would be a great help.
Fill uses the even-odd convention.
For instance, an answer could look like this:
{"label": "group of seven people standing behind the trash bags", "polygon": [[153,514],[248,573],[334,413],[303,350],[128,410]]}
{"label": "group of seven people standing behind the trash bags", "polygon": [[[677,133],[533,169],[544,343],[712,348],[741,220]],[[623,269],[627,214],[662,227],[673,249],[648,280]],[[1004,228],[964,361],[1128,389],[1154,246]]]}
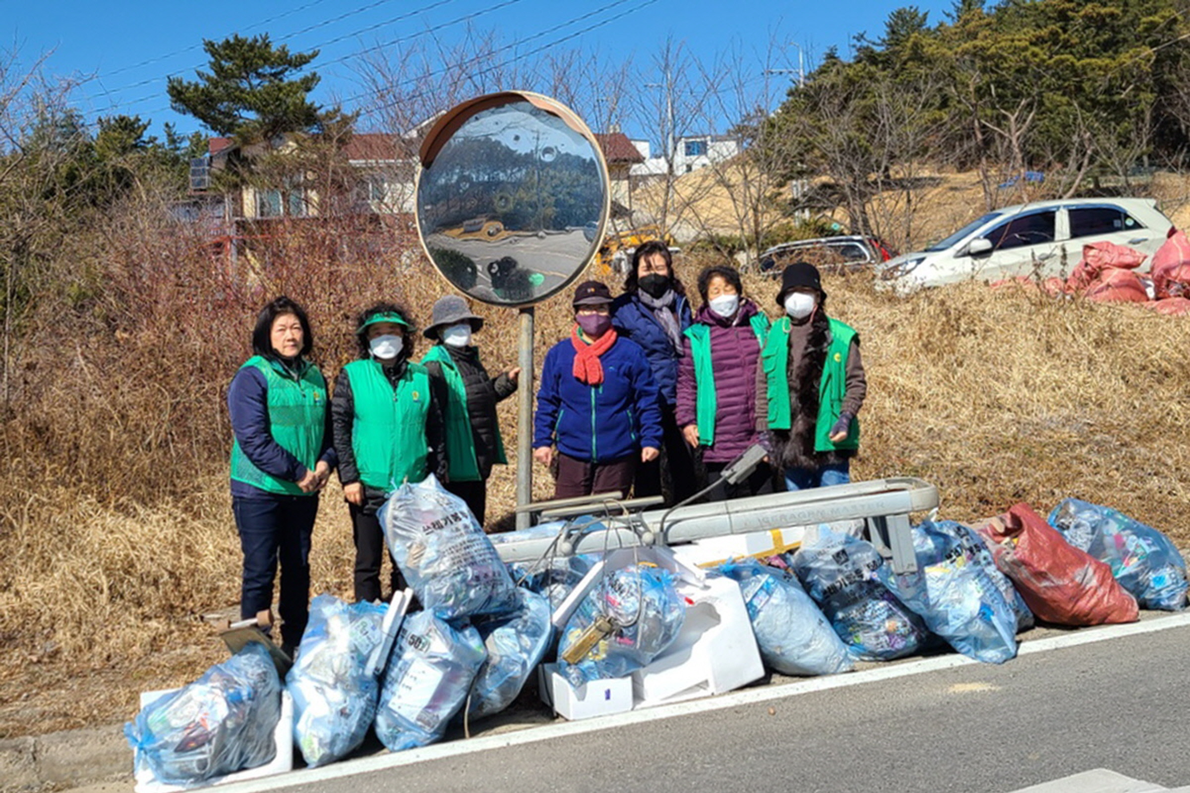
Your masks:
{"label": "group of seven people standing behind the trash bags", "polygon": [[[637,248],[619,297],[597,281],[577,287],[570,336],[545,357],[533,426],[533,458],[551,467],[556,498],[619,491],[672,504],[702,482],[716,484],[710,498],[734,498],[850,480],[866,383],[858,335],[827,316],[818,270],[785,268],[776,321],[731,266],[703,270],[697,289],[693,313],[660,243]],[[271,608],[280,561],[283,649],[306,627],[311,535],[332,470],[352,523],[357,600],[382,597],[377,510],[402,482],[433,473],[484,522],[487,480],[505,462],[496,403],[520,370],[489,376],[472,344],[482,327],[462,297],[440,298],[422,332],[433,345],[415,363],[411,314],[372,306],[356,321],[358,359],[328,395],[301,307],[278,297],[261,310],[255,354],[227,392],[231,491],[240,612]],[[753,443],[766,461],[734,485],[719,482]],[[393,590],[397,575],[393,565]]]}

